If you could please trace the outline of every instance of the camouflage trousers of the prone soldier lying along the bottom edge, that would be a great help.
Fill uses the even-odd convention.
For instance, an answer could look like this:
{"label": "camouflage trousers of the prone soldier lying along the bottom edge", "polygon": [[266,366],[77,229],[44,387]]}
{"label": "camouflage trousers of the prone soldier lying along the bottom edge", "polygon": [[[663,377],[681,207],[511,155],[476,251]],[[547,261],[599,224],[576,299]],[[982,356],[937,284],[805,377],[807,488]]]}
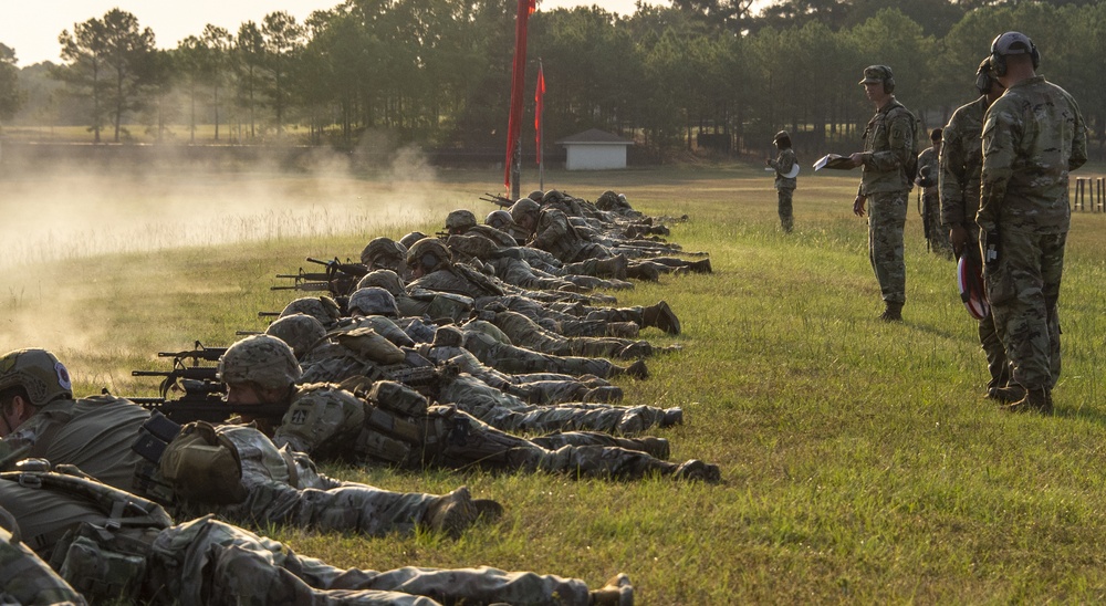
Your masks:
{"label": "camouflage trousers of the prone soldier lying along the bottom edge", "polygon": [[[489,567],[337,568],[236,526],[200,518],[157,536],[150,567],[180,604],[587,604],[584,582]],[[171,602],[171,599],[168,599]]]}

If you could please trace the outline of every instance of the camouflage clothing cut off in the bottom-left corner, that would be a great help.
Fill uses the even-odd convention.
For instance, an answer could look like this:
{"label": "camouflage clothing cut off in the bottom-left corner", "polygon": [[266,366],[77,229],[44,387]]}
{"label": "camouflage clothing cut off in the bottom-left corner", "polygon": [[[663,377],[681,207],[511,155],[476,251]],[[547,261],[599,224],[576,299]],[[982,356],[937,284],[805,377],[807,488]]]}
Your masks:
{"label": "camouflage clothing cut off in the bottom-left corner", "polygon": [[85,604],[38,555],[0,527],[0,604]]}

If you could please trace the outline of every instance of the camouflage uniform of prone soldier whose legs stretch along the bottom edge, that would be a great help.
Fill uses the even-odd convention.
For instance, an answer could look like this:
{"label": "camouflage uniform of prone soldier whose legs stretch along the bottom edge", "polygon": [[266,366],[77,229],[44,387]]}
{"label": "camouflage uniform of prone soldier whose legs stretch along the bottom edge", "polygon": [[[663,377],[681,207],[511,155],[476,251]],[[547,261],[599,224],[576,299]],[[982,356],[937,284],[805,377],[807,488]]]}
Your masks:
{"label": "camouflage uniform of prone soldier whose legs stretch along the bottom edge", "polygon": [[[119,508],[126,516],[112,512],[113,503],[127,503]],[[63,576],[98,600],[258,606],[591,603],[583,581],[553,575],[489,567],[336,568],[211,516],[174,525],[154,503],[61,473],[6,474],[0,479],[0,505],[12,506],[17,519],[43,537],[36,550],[43,558],[58,562]],[[67,531],[75,532],[60,540]]]}

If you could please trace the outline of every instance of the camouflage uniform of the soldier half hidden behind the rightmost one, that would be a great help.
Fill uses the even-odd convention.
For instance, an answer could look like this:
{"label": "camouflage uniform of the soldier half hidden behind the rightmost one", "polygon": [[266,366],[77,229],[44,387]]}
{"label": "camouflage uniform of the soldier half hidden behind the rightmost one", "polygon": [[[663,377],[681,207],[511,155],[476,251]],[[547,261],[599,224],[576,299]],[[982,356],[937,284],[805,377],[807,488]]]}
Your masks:
{"label": "camouflage uniform of the soldier half hidden behind the rightmost one", "polygon": [[[983,148],[980,133],[983,130],[983,114],[987,113],[985,96],[959,107],[945,127],[940,155],[941,229],[948,234],[960,226],[968,231],[968,242],[961,254],[971,255],[974,267],[982,267],[979,251],[980,170],[983,167]],[[1002,387],[1010,382],[1010,365],[999,335],[994,332],[994,318],[988,313],[979,321],[979,343],[987,356],[987,369],[991,376],[988,389]]]}

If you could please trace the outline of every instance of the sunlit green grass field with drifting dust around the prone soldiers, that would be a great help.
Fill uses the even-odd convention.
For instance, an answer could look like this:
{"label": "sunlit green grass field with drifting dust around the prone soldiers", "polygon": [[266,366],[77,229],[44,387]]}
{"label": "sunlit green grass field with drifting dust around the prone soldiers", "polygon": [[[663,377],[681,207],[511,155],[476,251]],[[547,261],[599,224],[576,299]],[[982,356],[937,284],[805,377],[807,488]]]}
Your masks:
{"label": "sunlit green grass field with drifting dust around the prone soldiers", "polygon": [[[1073,219],[1056,416],[1006,416],[980,397],[974,325],[953,264],[926,251],[914,198],[906,321],[876,320],[866,228],[851,213],[857,178],[804,169],[784,236],[759,166],[546,174],[546,187],[584,198],[615,189],[650,215],[687,213],[671,240],[711,253],[713,274],[617,295],[679,314],[679,337],[643,336],[684,351],[622,383],[625,403],[682,406],[686,425],[656,435],[674,460],[719,463],[721,484],[326,467],[393,490],[468,484],[507,513],[458,541],[263,531],[341,566],[490,565],[596,586],[625,572],[646,605],[1106,599],[1106,215]],[[273,274],[440,229],[453,208],[483,216],[478,197],[501,179],[0,173],[6,209],[39,209],[0,228],[0,343],[52,348],[81,395],[152,395],[132,369],[261,330],[257,312],[293,297],[269,290]]]}

